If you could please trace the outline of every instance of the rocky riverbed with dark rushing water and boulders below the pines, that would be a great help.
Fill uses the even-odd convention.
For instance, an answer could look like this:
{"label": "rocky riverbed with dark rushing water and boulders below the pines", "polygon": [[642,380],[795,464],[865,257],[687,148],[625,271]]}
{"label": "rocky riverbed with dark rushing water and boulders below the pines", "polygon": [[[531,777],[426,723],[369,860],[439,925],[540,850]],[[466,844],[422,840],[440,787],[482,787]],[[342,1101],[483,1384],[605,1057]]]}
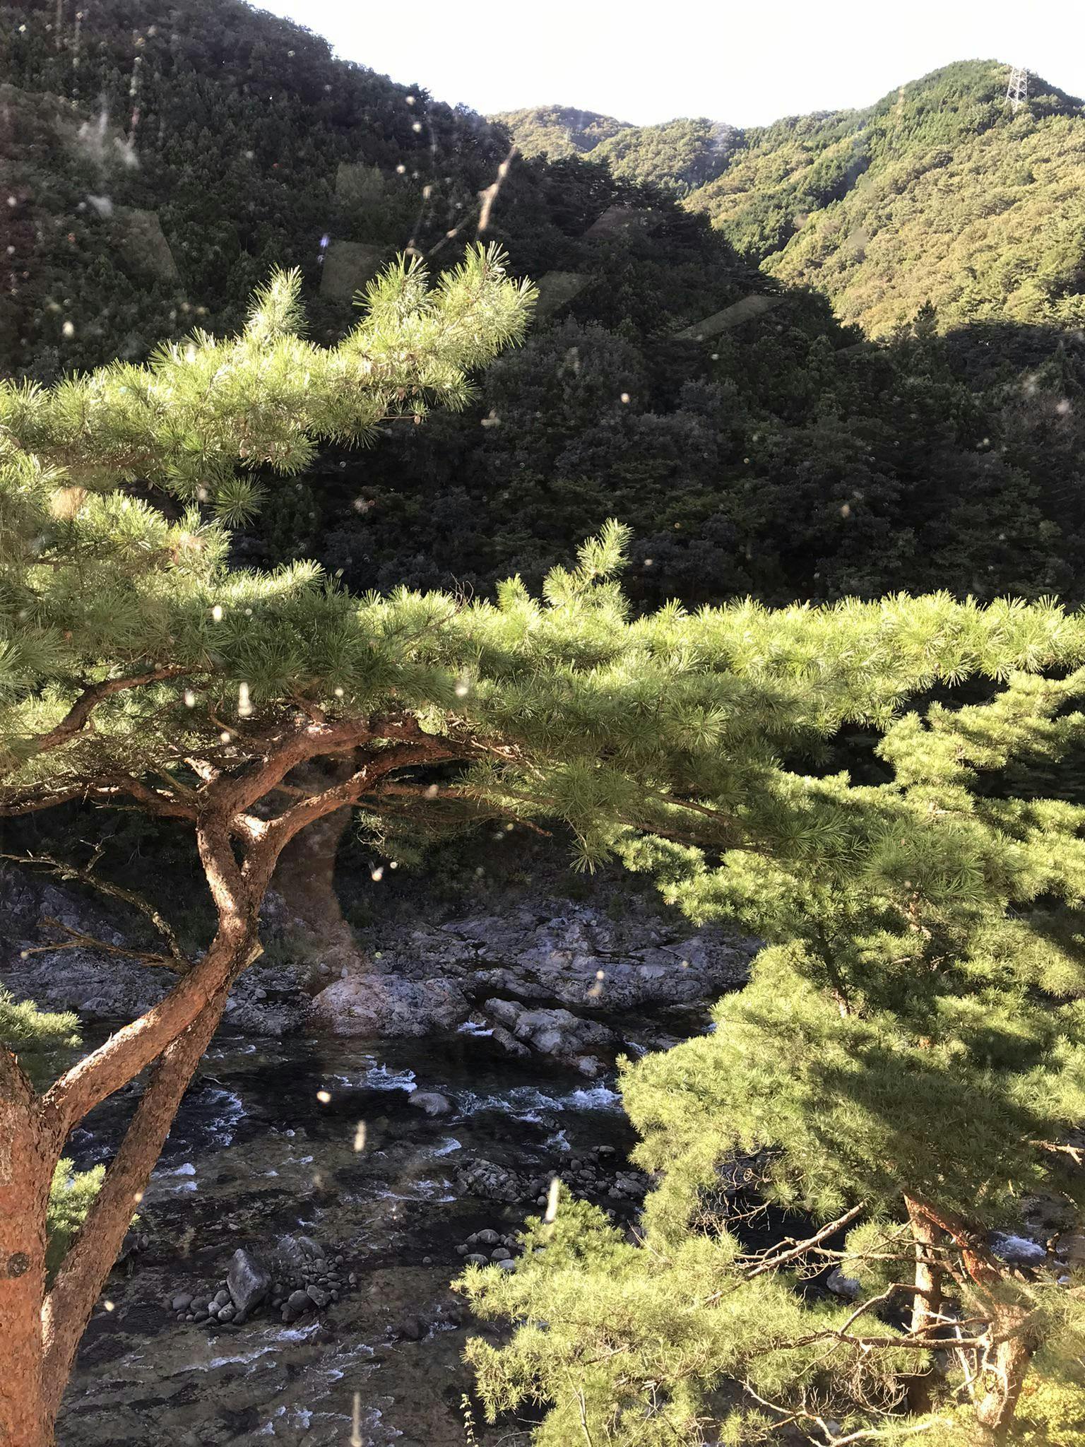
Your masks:
{"label": "rocky riverbed with dark rushing water and boulders below the pines", "polygon": [[[628,875],[570,897],[529,846],[492,844],[464,871],[450,891],[354,870],[347,917],[324,891],[323,933],[314,890],[304,916],[272,893],[268,954],[94,1312],[61,1447],[461,1447],[463,1344],[493,1330],[450,1289],[463,1262],[515,1270],[554,1175],[635,1217],[647,1181],[626,1159],[615,1061],[705,1029],[755,942],[692,929]],[[74,1009],[87,1045],[168,988],[87,943],[132,943],[133,920],[85,891],[0,868],[0,980]],[[77,1165],[109,1160],[136,1095],[74,1133]],[[490,1430],[475,1409],[479,1444],[514,1447],[527,1425]]]}

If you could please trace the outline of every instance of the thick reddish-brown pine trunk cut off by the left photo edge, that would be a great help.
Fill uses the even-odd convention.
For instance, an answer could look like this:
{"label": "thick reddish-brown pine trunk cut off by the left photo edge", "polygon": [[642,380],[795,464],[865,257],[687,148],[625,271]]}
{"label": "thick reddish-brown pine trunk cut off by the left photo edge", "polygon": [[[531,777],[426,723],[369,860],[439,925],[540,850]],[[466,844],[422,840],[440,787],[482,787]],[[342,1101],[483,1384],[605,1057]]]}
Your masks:
{"label": "thick reddish-brown pine trunk cut off by the left photo edge", "polygon": [[0,1048],[0,1443],[48,1447],[42,1295],[55,1156],[29,1081]]}

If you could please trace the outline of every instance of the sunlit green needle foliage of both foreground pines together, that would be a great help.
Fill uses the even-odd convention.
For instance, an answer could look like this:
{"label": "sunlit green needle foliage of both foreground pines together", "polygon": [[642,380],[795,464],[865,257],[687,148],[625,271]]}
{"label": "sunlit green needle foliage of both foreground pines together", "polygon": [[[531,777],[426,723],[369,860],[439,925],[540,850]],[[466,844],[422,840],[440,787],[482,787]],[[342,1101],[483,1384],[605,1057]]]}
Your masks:
{"label": "sunlit green needle foliage of both foreground pines together", "polygon": [[[1065,1425],[1076,1279],[1014,1273],[985,1243],[1023,1197],[1085,1204],[1060,1149],[1085,1111],[1085,807],[1021,783],[1085,742],[1081,615],[946,592],[638,614],[618,522],[541,595],[512,577],[493,599],[359,596],[314,563],[230,563],[231,522],[275,506],[317,440],[464,405],[469,372],[522,336],[532,301],[492,249],[433,285],[401,262],[320,347],[298,278],[278,275],[237,336],[197,333],[54,388],[3,383],[0,803],[123,794],[198,819],[310,725],[327,751],[365,738],[375,765],[411,729],[422,763],[408,751],[391,784],[375,770],[359,793],[378,819],[424,832],[435,757],[441,809],[558,820],[582,867],[618,855],[692,919],[768,942],[712,1035],[626,1068],[658,1175],[644,1243],[558,1214],[553,1255],[542,1223],[522,1276],[467,1282],[527,1333],[506,1354],[476,1350],[490,1409],[553,1405],[542,1441],[582,1427],[616,1444],[755,1441],[781,1417],[968,1440],[985,1408],[965,1366],[975,1395],[1021,1385],[985,1343],[1027,1359],[1026,1427]],[[835,757],[856,729],[877,738],[869,777]],[[275,813],[271,794],[258,806]],[[234,823],[258,842],[268,828],[256,810]],[[736,1159],[751,1201],[851,1227],[833,1250],[871,1294],[858,1331],[797,1291],[816,1247],[771,1269],[744,1255]],[[58,1231],[95,1185],[65,1182]],[[942,1315],[975,1344],[922,1406],[910,1379],[933,1343],[909,1338],[900,1308],[910,1200],[949,1223]],[[609,1263],[605,1281],[570,1234]],[[904,1282],[891,1292],[885,1260]],[[1036,1393],[1046,1417],[1029,1417]]]}

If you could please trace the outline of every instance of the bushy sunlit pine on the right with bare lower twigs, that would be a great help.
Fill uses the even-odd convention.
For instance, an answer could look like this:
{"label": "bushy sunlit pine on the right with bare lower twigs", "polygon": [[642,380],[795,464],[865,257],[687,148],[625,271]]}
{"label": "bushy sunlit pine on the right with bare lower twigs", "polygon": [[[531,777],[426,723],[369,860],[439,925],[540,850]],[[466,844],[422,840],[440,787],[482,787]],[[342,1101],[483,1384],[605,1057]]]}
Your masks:
{"label": "bushy sunlit pine on the right with bare lower twigs", "polygon": [[[901,609],[914,644],[943,606],[894,601],[881,618]],[[998,653],[1053,624],[1047,608],[984,616]],[[846,658],[820,632],[830,621]],[[635,1158],[657,1181],[639,1239],[566,1198],[529,1223],[514,1276],[469,1270],[477,1310],[515,1323],[509,1346],[472,1344],[485,1401],[490,1415],[545,1402],[540,1447],[1076,1443],[1085,809],[1044,793],[1085,742],[1078,624],[1055,624],[1053,654],[1026,644],[1014,671],[961,638],[943,677],[994,674],[979,702],[940,690],[891,718],[897,664],[862,608],[791,614],[790,657],[778,634],[775,655],[752,641],[757,622],[749,609],[732,667],[745,654],[814,696],[841,667],[838,683],[871,670],[851,722],[880,731],[884,781],[825,760],[786,770],[773,721],[736,713],[723,726],[764,748],[765,773],[757,796],[735,794],[720,748],[713,802],[732,838],[619,845],[690,917],[738,919],[767,948],[712,1033],[625,1068]],[[1020,670],[1044,653],[1060,660],[1047,677]],[[839,721],[809,716],[823,737]],[[1000,1242],[1029,1202],[1056,1230],[1023,1263]],[[755,1250],[744,1231],[765,1208],[790,1214]],[[832,1266],[846,1305],[823,1289]]]}

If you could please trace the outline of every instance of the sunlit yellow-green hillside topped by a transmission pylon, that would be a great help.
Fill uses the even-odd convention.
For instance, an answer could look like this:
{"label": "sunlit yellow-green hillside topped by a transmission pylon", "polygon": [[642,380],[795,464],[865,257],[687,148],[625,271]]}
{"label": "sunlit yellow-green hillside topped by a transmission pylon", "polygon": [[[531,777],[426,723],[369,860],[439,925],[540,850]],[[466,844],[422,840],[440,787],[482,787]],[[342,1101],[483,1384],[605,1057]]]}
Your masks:
{"label": "sunlit yellow-green hillside topped by a transmission pylon", "polygon": [[1039,77],[966,61],[867,110],[748,130],[687,204],[783,281],[875,336],[930,301],[942,326],[1085,320],[1085,113]]}

